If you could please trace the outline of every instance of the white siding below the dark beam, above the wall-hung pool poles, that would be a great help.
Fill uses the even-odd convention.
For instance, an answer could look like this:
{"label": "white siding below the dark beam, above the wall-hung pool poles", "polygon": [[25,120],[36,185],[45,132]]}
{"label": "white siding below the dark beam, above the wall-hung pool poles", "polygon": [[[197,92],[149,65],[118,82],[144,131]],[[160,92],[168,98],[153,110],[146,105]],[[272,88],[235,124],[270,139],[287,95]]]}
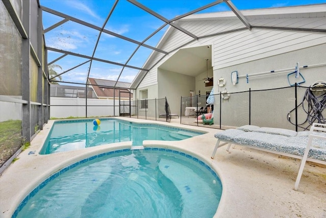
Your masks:
{"label": "white siding below the dark beam, above the wall-hung pool poles", "polygon": [[241,31],[214,42],[214,69],[283,54],[326,42],[322,33],[279,30]]}

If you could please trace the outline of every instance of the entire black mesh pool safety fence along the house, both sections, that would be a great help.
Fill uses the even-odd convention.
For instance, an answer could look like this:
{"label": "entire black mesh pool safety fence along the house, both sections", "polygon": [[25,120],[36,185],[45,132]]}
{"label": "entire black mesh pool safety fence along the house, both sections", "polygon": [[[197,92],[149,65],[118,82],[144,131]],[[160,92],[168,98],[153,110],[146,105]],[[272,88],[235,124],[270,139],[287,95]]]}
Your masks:
{"label": "entire black mesh pool safety fence along the house, both sections", "polygon": [[[120,116],[170,122],[180,118],[180,124],[217,129],[244,125],[308,130],[312,123],[326,123],[326,84],[321,89],[289,86],[276,89],[181,97],[179,114],[171,114],[166,98],[121,101]],[[171,103],[170,103],[171,104]],[[203,114],[212,112],[213,125],[203,125]],[[209,117],[209,116],[208,116]]]}

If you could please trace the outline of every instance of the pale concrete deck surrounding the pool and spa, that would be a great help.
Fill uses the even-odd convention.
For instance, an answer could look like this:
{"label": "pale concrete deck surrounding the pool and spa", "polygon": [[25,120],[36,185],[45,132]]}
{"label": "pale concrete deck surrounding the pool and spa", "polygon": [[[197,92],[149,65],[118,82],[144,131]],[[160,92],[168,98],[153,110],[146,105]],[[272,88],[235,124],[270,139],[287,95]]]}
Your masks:
{"label": "pale concrete deck surrounding the pool and spa", "polygon": [[[219,174],[223,194],[215,217],[326,217],[326,166],[307,162],[298,187],[293,190],[300,160],[236,146],[222,147],[214,160],[218,129],[117,117],[135,123],[157,123],[206,134],[181,141],[145,141],[144,146],[158,146],[184,151],[199,157]],[[31,147],[19,154],[0,175],[0,217],[11,217],[21,200],[39,183],[80,159],[110,150],[130,148],[131,142],[106,144],[69,152],[39,155],[38,152],[53,124],[49,120],[35,138]]]}

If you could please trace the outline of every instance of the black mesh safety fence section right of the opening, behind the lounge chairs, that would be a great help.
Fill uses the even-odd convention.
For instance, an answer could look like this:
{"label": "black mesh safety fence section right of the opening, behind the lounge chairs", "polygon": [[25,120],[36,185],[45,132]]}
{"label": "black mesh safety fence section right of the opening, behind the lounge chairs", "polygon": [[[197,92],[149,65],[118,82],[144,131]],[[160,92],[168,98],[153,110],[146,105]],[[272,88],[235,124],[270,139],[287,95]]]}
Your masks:
{"label": "black mesh safety fence section right of the opening, behind the lounge chairs", "polygon": [[[198,116],[210,106],[207,96],[181,98],[181,124],[202,125]],[[326,123],[326,88],[294,86],[213,95],[214,127],[235,128],[243,125],[304,131],[312,123]],[[207,113],[206,111],[204,113]],[[206,125],[204,125],[206,126]],[[208,125],[207,125],[208,127]]]}

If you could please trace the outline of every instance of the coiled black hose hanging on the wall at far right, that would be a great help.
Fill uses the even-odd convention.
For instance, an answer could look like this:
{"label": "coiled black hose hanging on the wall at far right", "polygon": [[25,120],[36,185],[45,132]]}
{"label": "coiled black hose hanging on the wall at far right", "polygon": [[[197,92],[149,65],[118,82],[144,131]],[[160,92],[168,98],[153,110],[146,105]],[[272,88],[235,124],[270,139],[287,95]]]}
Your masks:
{"label": "coiled black hose hanging on the wall at far right", "polygon": [[[315,95],[315,93],[319,95]],[[300,105],[297,106],[297,108],[300,107],[301,105],[303,111],[307,114],[307,118],[303,123],[297,124],[298,126],[301,126],[306,122],[308,122],[309,126],[304,128],[305,130],[307,130],[313,123],[319,123],[319,124],[326,123],[326,117],[324,117],[322,114],[323,110],[326,108],[326,91],[324,90],[316,91],[312,88],[308,88],[305,92],[302,102],[300,103]],[[295,124],[292,123],[290,120],[291,117],[290,113],[294,110],[295,108],[287,114],[288,122],[290,122],[293,125]]]}

